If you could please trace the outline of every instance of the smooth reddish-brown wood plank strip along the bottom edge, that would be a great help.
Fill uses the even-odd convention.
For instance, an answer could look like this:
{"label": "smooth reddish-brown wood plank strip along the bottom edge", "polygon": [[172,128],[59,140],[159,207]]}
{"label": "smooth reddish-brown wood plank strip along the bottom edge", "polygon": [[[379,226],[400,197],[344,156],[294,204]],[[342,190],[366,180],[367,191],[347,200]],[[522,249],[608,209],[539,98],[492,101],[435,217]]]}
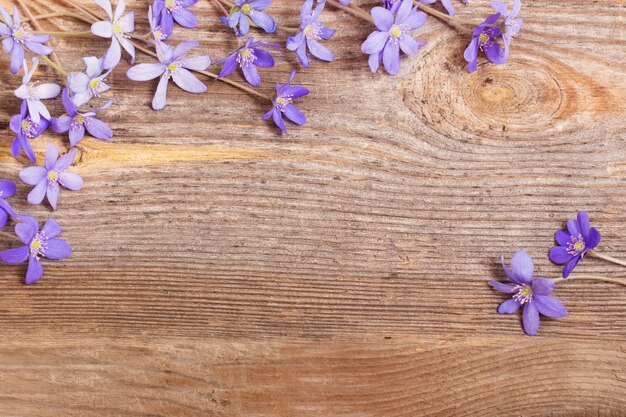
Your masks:
{"label": "smooth reddish-brown wood plank strip along the bottom edge", "polygon": [[0,414],[624,416],[626,346],[51,339],[0,349]]}

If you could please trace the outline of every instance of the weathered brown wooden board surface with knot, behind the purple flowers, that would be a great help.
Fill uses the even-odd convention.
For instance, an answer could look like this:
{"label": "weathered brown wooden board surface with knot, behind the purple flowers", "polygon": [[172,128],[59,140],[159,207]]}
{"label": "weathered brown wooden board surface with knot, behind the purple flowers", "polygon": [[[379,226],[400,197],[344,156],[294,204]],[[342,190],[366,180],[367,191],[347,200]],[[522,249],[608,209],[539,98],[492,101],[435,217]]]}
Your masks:
{"label": "weathered brown wooden board surface with knot, behind the purple flowers", "polygon": [[[145,33],[148,1],[128,3]],[[270,10],[296,26],[299,5]],[[210,2],[193,10],[198,30],[177,40],[198,37],[216,60],[238,46]],[[359,50],[371,27],[329,9],[337,59],[300,71],[308,124],[289,136],[260,120],[267,103],[211,80],[204,95],[170,86],[154,112],[156,82],[130,82],[123,62],[103,113],[115,137],[79,146],[85,188],[55,213],[29,206],[25,184],[10,200],[56,219],[75,252],[34,286],[25,266],[0,266],[0,415],[626,416],[623,288],[560,286],[568,317],[531,338],[487,285],[519,248],[557,277],[553,232],[579,209],[602,251],[626,253],[624,3],[533,0],[522,15],[505,66],[468,74],[467,35],[429,18],[416,32],[428,46],[390,77]],[[108,44],[56,46],[81,70]],[[278,62],[262,72],[268,94],[299,69],[291,53]],[[0,178],[19,182],[7,66]],[[67,146],[48,132],[40,155],[49,142]],[[579,272],[625,276],[595,259]]]}

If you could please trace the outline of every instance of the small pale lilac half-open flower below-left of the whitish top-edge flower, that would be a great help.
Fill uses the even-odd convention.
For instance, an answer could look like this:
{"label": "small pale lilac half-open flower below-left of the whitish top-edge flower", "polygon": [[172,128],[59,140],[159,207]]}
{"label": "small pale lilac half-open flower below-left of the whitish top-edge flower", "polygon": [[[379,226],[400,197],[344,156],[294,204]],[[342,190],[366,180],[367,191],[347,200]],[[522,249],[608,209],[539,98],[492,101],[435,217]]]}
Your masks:
{"label": "small pale lilac half-open flower below-left of the whitish top-edge flower", "polygon": [[86,71],[74,72],[67,77],[68,87],[72,92],[71,100],[76,107],[82,106],[93,97],[100,97],[100,94],[111,89],[104,80],[112,70],[104,70],[103,59],[87,56],[83,61],[87,67]]}

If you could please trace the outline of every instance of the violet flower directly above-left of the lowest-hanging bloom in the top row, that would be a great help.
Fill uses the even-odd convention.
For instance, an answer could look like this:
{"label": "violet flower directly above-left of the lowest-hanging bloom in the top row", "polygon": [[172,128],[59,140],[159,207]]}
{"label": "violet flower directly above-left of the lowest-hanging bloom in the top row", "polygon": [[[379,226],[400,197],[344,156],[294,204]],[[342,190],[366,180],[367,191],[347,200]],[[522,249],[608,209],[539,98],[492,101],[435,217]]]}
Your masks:
{"label": "violet flower directly above-left of the lowest-hanging bloom in the top row", "polygon": [[271,68],[274,66],[274,58],[269,52],[261,49],[260,47],[275,47],[281,48],[280,45],[275,43],[266,42],[253,42],[254,38],[249,37],[246,44],[230,54],[228,57],[221,59],[216,64],[224,63],[222,70],[220,71],[220,78],[227,77],[237,68],[237,64],[243,71],[243,76],[246,81],[256,87],[261,84],[261,75],[256,67]]}

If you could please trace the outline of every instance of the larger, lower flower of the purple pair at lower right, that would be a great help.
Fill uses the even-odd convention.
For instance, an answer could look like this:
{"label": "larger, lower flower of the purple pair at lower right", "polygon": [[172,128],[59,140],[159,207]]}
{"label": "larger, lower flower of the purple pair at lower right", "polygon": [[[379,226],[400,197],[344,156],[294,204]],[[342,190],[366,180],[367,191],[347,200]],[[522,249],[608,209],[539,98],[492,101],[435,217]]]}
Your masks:
{"label": "larger, lower flower of the purple pair at lower right", "polygon": [[539,330],[539,313],[547,317],[561,318],[567,315],[565,306],[556,298],[550,296],[554,289],[554,281],[547,278],[533,279],[533,260],[525,251],[519,250],[511,259],[511,269],[504,264],[502,257],[502,267],[509,280],[515,284],[508,285],[491,280],[490,284],[496,290],[512,294],[512,299],[500,304],[498,313],[515,313],[521,306],[522,323],[524,331],[529,336],[534,336]]}

